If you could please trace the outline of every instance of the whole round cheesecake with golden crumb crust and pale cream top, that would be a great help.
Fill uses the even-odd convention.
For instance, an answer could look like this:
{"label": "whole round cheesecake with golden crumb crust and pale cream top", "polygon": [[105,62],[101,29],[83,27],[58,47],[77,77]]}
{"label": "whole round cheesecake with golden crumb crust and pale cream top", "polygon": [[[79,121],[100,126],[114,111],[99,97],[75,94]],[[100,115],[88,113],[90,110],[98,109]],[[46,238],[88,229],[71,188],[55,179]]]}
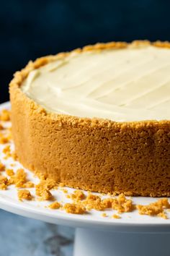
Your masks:
{"label": "whole round cheesecake with golden crumb crust and pale cream top", "polygon": [[97,43],[10,83],[19,161],[68,187],[170,195],[170,43]]}

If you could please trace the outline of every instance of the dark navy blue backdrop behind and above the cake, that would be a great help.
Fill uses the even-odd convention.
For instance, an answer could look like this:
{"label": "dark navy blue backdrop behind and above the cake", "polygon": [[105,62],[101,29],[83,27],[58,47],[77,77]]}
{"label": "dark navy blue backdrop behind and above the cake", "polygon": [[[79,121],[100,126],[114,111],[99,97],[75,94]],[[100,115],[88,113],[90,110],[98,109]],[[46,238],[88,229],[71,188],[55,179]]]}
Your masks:
{"label": "dark navy blue backdrop behind and above the cake", "polygon": [[170,40],[170,1],[0,1],[0,102],[38,56],[112,40]]}

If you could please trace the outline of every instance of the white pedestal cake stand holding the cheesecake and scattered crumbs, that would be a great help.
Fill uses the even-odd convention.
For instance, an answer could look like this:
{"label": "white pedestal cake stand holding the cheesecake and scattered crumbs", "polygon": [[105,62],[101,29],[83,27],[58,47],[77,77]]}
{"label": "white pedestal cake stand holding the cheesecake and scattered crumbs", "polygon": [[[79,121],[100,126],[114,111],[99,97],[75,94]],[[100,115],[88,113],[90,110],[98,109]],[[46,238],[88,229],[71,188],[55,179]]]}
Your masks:
{"label": "white pedestal cake stand holding the cheesecake and scattered crumbs", "polygon": [[[2,104],[1,108],[9,107],[9,103]],[[14,145],[12,145],[13,147]],[[0,145],[0,161],[10,168],[14,162],[12,158],[4,160]],[[21,168],[15,162],[14,168]],[[22,167],[23,168],[23,167]],[[28,170],[29,179],[37,179]],[[35,189],[30,189],[32,195]],[[68,193],[73,189],[68,188]],[[58,201],[69,202],[62,188],[52,190],[53,196]],[[138,204],[148,204],[156,199],[150,197],[133,197]],[[169,256],[170,249],[170,213],[169,219],[158,217],[140,216],[138,211],[123,213],[122,218],[111,218],[112,210],[107,210],[108,217],[102,217],[102,212],[92,210],[86,215],[72,215],[63,210],[50,210],[46,208],[48,201],[24,201],[17,199],[17,189],[13,186],[0,190],[0,208],[21,216],[35,218],[49,223],[72,226],[76,228],[74,256]]]}

